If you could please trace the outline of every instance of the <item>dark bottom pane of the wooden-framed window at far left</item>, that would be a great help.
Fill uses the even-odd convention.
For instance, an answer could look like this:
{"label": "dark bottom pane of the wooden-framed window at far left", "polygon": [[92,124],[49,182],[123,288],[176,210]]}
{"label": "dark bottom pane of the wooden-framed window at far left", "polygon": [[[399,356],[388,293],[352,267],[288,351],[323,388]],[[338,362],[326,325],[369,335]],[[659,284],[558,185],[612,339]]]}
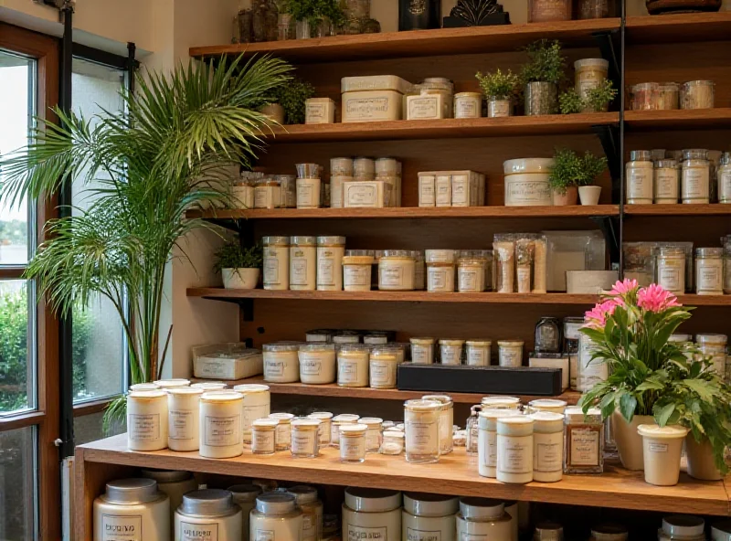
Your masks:
{"label": "dark bottom pane of the wooden-framed window at far left", "polygon": [[0,539],[36,538],[35,432],[0,432]]}

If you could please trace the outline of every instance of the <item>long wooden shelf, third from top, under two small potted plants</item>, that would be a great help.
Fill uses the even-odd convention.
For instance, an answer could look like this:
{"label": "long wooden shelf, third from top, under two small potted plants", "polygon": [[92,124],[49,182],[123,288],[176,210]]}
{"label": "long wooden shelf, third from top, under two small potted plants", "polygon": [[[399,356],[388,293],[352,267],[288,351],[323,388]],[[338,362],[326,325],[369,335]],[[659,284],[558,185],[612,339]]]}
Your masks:
{"label": "long wooden shelf, third from top, under two small potted plants", "polygon": [[[731,207],[729,205],[728,207]],[[731,212],[731,208],[729,208]],[[413,219],[413,218],[544,218],[618,217],[618,205],[572,207],[399,207],[399,208],[271,208],[189,211],[187,217],[209,219]]]}

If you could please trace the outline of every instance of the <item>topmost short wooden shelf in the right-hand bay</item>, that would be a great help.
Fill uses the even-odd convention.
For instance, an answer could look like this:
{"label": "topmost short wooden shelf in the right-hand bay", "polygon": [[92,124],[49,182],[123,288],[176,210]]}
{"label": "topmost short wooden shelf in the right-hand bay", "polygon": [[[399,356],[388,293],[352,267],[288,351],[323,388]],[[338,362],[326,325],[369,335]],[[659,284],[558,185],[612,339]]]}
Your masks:
{"label": "topmost short wooden shelf in the right-hand bay", "polygon": [[731,12],[627,17],[628,45],[731,39]]}

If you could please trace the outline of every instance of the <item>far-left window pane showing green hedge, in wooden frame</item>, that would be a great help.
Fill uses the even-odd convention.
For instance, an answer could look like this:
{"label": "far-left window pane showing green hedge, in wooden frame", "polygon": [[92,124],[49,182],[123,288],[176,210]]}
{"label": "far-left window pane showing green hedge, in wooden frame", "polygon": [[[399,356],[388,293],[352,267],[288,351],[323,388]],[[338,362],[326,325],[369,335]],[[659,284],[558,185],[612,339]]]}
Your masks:
{"label": "far-left window pane showing green hedge, in wooden frame", "polygon": [[29,282],[0,281],[0,416],[36,406],[34,306]]}

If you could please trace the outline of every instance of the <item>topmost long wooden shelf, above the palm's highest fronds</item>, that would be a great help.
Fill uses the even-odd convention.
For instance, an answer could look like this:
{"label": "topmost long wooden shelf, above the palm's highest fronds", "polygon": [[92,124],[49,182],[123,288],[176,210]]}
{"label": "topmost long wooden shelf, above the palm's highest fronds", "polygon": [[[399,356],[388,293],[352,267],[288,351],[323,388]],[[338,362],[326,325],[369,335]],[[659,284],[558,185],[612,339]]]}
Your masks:
{"label": "topmost long wooden shelf, above the palm's highest fronds", "polygon": [[191,57],[272,54],[292,62],[336,62],[512,51],[541,38],[568,47],[595,46],[595,32],[619,30],[619,18],[493,27],[440,28],[190,48]]}

